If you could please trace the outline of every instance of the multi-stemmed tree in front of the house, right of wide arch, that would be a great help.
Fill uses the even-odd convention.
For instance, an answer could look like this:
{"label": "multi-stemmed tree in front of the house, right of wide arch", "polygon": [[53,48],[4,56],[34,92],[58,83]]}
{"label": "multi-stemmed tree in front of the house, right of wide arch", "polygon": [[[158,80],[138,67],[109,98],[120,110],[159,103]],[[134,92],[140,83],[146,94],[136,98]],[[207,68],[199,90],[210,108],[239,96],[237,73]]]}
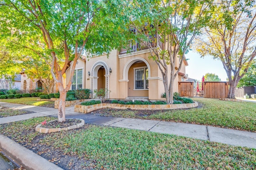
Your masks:
{"label": "multi-stemmed tree in front of the house, right of wide arch", "polygon": [[209,5],[206,0],[132,0],[125,8],[134,40],[146,43],[162,73],[167,103],[173,102],[174,79],[192,40],[210,18]]}

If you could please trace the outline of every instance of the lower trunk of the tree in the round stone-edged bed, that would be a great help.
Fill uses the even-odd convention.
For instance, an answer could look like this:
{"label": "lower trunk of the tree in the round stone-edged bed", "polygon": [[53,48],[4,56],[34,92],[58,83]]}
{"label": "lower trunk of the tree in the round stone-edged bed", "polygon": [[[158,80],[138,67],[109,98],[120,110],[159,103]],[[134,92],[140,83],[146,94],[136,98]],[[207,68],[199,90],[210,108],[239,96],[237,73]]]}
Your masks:
{"label": "lower trunk of the tree in the round stone-edged bed", "polygon": [[60,91],[60,103],[59,103],[59,108],[58,108],[58,122],[65,122],[65,108],[66,108],[66,96],[67,93],[65,89]]}

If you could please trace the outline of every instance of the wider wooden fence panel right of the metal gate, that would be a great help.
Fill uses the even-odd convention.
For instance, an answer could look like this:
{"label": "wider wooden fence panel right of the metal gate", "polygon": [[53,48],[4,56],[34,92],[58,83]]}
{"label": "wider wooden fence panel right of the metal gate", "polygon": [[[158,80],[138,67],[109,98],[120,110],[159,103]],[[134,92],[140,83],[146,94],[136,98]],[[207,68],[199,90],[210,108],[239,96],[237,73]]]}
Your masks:
{"label": "wider wooden fence panel right of the metal gate", "polygon": [[228,82],[226,81],[204,81],[204,98],[227,98]]}

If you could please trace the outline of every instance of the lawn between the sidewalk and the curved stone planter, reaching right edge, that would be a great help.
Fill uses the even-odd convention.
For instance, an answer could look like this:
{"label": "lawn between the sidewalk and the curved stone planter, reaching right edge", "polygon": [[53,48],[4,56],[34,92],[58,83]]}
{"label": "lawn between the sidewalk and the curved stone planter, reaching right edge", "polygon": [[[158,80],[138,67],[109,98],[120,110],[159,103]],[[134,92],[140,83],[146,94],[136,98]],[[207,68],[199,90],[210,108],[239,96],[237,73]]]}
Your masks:
{"label": "lawn between the sidewalk and the curved stone planter, reaching right edge", "polygon": [[[192,98],[200,107],[138,115],[136,111],[110,111],[103,115],[211,125],[256,132],[256,103]],[[202,105],[202,107],[201,107]]]}

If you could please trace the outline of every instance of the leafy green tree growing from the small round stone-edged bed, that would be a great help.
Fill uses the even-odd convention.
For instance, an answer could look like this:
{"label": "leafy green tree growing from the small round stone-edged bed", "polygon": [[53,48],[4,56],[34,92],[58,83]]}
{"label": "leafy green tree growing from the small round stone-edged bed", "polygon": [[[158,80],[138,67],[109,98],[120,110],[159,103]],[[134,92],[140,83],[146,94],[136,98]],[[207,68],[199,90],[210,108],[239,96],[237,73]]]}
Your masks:
{"label": "leafy green tree growing from the small round stone-edged bed", "polygon": [[114,6],[122,5],[107,0],[3,0],[0,4],[1,38],[30,49],[50,66],[60,92],[58,121],[65,121],[66,92],[76,66],[70,68],[70,81],[64,87],[68,63],[76,63],[85,49],[108,53],[118,46],[119,20],[113,16]]}

